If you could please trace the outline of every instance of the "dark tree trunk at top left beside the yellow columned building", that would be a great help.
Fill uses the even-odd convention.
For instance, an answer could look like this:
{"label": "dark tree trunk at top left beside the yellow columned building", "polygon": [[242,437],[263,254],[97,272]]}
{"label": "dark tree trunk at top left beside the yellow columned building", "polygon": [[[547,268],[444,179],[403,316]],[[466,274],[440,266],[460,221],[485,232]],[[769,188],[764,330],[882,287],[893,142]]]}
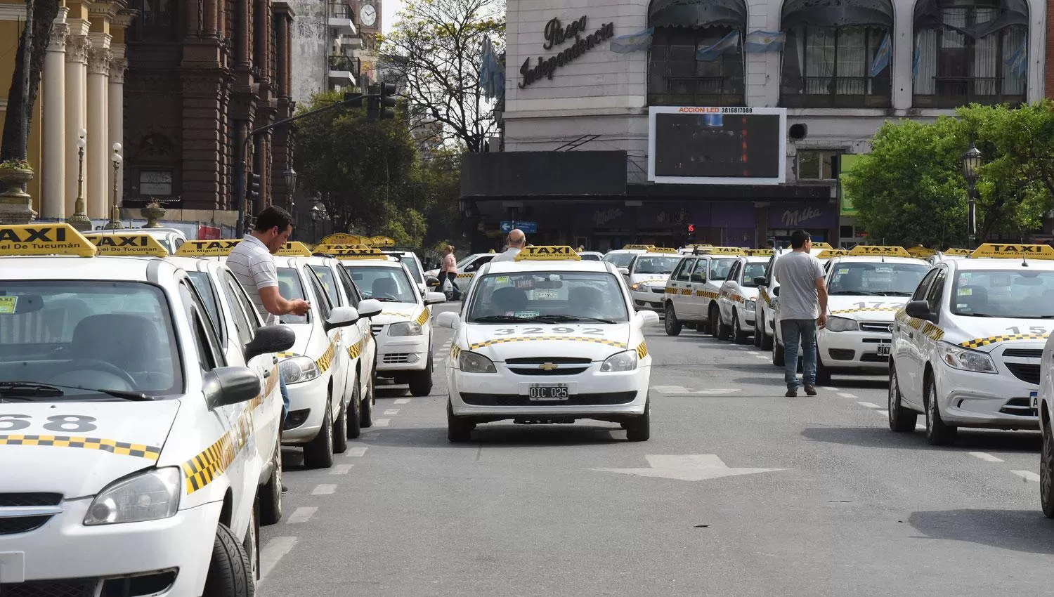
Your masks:
{"label": "dark tree trunk at top left beside the yellow columned building", "polygon": [[[26,25],[15,54],[15,72],[7,92],[7,112],[0,137],[0,162],[25,160],[30,137],[33,105],[40,89],[40,75],[44,71],[47,45],[52,41],[52,23],[59,14],[58,0],[25,0]],[[30,48],[30,63],[25,63],[25,48]],[[25,101],[22,100],[25,98]]]}

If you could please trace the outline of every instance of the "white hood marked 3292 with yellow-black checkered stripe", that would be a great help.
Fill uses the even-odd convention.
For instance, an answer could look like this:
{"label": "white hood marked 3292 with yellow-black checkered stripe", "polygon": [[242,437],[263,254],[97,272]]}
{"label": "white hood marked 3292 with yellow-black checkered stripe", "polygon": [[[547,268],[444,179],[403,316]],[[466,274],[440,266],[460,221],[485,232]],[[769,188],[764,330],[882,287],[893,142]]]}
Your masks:
{"label": "white hood marked 3292 with yellow-black checkered stripe", "polygon": [[[567,333],[567,330],[571,330]],[[560,325],[473,324],[465,325],[461,350],[480,353],[490,360],[510,358],[567,357],[602,361],[629,350],[628,323]]]}

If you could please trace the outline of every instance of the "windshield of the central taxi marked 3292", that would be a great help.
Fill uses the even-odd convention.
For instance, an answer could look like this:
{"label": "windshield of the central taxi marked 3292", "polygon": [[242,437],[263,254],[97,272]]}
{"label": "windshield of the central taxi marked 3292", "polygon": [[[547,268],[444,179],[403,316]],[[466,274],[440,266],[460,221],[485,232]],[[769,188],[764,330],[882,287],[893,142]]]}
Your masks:
{"label": "windshield of the central taxi marked 3292", "polygon": [[491,274],[474,283],[466,321],[628,320],[619,279],[604,272]]}

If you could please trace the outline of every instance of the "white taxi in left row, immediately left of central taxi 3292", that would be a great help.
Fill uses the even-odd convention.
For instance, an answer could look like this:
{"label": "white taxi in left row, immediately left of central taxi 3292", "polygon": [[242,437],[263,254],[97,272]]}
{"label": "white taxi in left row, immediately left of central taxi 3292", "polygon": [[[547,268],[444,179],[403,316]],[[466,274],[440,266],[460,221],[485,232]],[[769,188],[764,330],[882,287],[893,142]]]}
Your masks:
{"label": "white taxi in left row, immediately left of central taxi 3292", "polygon": [[408,383],[413,396],[432,393],[432,319],[428,305],[444,302],[443,293],[423,297],[406,265],[376,248],[337,253],[364,297],[383,307],[373,317],[377,377]]}

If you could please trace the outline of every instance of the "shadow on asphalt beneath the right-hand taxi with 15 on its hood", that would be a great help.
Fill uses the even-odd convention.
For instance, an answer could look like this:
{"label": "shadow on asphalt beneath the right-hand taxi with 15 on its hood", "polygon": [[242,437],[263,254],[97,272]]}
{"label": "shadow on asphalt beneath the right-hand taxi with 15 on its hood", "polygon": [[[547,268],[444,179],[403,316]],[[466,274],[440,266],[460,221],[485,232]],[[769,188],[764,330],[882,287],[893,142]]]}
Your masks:
{"label": "shadow on asphalt beneath the right-hand taxi with 15 on its hood", "polygon": [[[920,421],[921,422],[921,421]],[[933,450],[941,452],[1020,452],[1039,453],[1042,437],[1039,432],[1003,432],[960,429],[955,445],[930,445],[921,430],[915,433],[894,433],[885,427],[809,427],[801,435],[813,441],[841,443],[860,447],[893,447]]]}

